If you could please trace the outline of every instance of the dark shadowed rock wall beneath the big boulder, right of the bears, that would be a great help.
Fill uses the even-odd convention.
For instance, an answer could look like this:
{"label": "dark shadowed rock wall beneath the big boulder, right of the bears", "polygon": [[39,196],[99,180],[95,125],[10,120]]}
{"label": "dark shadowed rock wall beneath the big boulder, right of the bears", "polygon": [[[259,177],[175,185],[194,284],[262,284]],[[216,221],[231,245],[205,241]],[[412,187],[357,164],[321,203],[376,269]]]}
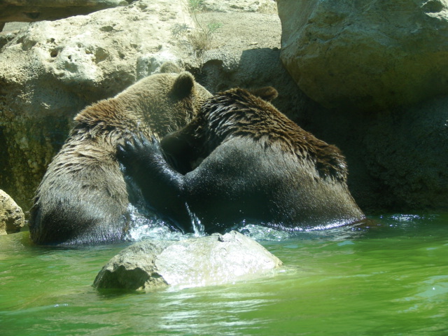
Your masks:
{"label": "dark shadowed rock wall beneath the big boulder, right of the bears", "polygon": [[366,214],[448,209],[448,97],[369,116],[302,112],[306,130],[342,149],[351,195]]}

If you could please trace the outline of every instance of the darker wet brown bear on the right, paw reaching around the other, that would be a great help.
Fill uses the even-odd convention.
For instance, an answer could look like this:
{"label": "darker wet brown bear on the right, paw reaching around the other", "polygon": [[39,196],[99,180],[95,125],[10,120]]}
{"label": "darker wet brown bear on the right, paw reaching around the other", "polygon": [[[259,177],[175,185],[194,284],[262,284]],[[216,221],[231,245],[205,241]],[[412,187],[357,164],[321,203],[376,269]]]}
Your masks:
{"label": "darker wet brown bear on the right, paw reaching around the other", "polygon": [[142,190],[164,190],[163,199],[144,197],[183,227],[192,213],[206,232],[246,222],[307,230],[363,220],[342,153],[262,99],[273,97],[272,87],[221,92],[160,146],[136,137],[118,158]]}

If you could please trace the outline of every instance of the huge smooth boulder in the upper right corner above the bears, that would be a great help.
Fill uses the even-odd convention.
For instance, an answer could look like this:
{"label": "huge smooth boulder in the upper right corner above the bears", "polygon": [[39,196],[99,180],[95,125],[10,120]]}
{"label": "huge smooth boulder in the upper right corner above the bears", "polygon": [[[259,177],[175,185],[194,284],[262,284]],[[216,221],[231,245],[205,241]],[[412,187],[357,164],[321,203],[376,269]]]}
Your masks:
{"label": "huge smooth boulder in the upper right corner above the bears", "polygon": [[386,109],[448,93],[448,3],[278,0],[281,59],[325,107]]}

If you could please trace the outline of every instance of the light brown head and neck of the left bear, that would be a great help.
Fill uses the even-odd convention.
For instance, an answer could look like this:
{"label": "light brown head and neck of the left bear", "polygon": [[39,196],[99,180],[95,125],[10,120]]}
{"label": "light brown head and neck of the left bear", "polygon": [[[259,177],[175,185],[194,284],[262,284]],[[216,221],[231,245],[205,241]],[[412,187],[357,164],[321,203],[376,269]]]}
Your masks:
{"label": "light brown head and neck of the left bear", "polygon": [[90,134],[141,132],[161,139],[192,120],[211,97],[188,71],[166,62],[160,73],[142,78],[111,99],[97,102],[75,117]]}

